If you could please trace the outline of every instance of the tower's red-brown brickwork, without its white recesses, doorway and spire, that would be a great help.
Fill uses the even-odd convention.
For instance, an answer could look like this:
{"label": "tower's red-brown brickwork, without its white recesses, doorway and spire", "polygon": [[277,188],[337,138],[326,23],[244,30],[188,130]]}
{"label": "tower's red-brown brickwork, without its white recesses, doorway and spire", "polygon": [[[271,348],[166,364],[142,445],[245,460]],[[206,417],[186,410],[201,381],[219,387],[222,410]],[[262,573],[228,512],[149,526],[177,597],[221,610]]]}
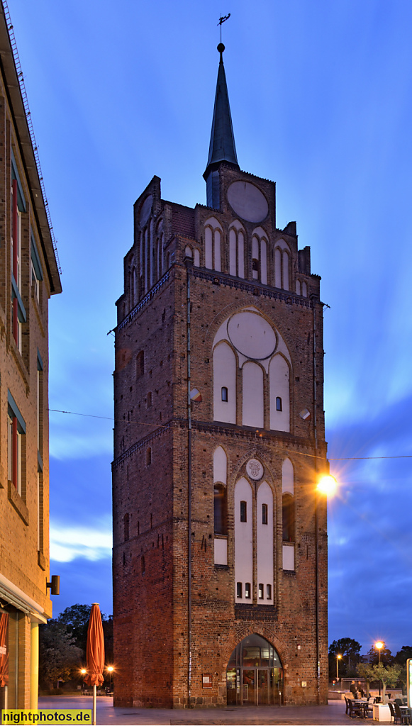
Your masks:
{"label": "tower's red-brown brickwork, without its white recesses, doorway and spire", "polygon": [[[268,211],[259,224],[241,219],[228,202],[227,189],[234,181],[263,193]],[[283,230],[275,226],[274,183],[222,163],[219,185],[219,210],[161,200],[158,177],[134,205],[134,245],[124,259],[124,294],[117,302],[114,374],[115,705],[186,707],[189,699],[190,706],[198,707],[227,703],[230,655],[254,633],[278,653],[283,703],[327,699],[326,502],[315,492],[319,473],[328,470],[320,278],[310,273],[309,248],[298,250],[296,224]],[[215,269],[206,266],[205,223],[211,218],[222,233]],[[240,220],[244,234],[243,277],[230,274],[234,220]],[[259,280],[263,262],[257,264],[253,258],[257,227],[267,240],[265,283]],[[288,250],[288,280],[283,277],[282,286],[276,287],[279,240]],[[240,364],[235,423],[214,420],[214,338],[230,316],[245,309],[269,322],[288,349],[288,431],[270,430],[267,375],[264,425],[243,425]],[[201,401],[190,403],[190,423],[187,356],[190,388],[201,393]],[[214,563],[217,446],[227,456],[227,564],[223,565]],[[294,468],[292,570],[283,567],[286,458]],[[246,478],[256,495],[259,481],[246,472],[250,459],[261,462],[261,479],[273,495],[272,605],[257,600],[256,547],[250,603],[238,603],[235,597],[234,491],[236,482]],[[254,540],[258,516],[254,499]],[[211,688],[203,688],[204,674],[211,676]]]}

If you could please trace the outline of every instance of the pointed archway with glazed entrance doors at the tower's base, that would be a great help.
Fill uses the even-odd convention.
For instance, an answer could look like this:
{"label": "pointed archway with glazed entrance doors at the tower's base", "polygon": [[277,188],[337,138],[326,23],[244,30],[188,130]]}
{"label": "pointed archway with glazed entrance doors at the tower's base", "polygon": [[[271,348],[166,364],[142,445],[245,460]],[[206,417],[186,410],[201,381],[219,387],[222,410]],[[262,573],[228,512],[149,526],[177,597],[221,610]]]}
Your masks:
{"label": "pointed archway with glazed entrance doors at the tower's base", "polygon": [[236,645],[226,670],[227,705],[280,706],[283,667],[277,651],[253,633]]}

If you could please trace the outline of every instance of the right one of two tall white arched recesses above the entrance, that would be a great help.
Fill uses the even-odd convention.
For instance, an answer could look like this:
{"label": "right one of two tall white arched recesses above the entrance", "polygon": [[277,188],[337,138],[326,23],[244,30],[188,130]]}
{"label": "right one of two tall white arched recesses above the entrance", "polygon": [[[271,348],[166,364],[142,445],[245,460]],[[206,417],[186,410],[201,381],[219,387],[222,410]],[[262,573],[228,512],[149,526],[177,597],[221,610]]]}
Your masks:
{"label": "right one of two tall white arched recesses above the entrance", "polygon": [[257,490],[257,602],[273,604],[273,494],[266,481]]}

